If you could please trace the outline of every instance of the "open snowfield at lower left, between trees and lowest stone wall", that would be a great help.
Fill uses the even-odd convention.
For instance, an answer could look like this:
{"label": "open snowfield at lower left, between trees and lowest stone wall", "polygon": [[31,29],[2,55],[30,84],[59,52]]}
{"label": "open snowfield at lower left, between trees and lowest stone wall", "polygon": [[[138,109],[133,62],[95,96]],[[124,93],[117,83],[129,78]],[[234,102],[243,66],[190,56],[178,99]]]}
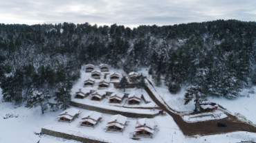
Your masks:
{"label": "open snowfield at lower left, between trees and lowest stone wall", "polygon": [[[15,105],[9,102],[1,101],[1,89],[0,89],[0,142],[6,143],[77,143],[74,140],[65,140],[60,137],[52,137],[50,135],[44,135],[39,137],[34,132],[40,133],[42,126],[45,126],[49,122],[55,120],[56,115],[62,112],[47,111],[42,115],[40,107],[34,109],[28,109],[24,107],[15,108]],[[12,116],[12,118],[6,118],[6,114]],[[17,118],[16,118],[16,117]]]}

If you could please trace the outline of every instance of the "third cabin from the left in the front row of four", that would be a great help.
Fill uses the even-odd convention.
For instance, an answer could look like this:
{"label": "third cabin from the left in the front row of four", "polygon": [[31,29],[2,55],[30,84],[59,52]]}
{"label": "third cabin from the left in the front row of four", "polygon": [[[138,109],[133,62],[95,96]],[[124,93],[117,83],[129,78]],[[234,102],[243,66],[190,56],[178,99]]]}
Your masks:
{"label": "third cabin from the left in the front row of four", "polygon": [[112,115],[107,122],[107,131],[123,131],[127,122],[127,117],[123,115]]}

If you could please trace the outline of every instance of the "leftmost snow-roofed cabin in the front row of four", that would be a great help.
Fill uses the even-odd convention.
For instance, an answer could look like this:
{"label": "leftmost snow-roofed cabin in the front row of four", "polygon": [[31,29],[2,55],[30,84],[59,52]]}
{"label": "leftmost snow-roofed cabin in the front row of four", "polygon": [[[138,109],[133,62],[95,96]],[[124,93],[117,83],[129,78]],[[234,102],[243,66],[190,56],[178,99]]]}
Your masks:
{"label": "leftmost snow-roofed cabin in the front row of four", "polygon": [[59,114],[59,117],[57,117],[59,122],[72,122],[77,118],[77,116],[80,114],[80,110],[71,108],[66,109],[62,113]]}

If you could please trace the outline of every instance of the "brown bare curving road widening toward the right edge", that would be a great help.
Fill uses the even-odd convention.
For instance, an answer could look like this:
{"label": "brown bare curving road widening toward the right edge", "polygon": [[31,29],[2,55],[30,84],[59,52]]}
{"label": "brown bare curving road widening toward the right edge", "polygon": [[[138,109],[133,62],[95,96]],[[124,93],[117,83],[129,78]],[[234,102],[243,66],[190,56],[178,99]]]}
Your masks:
{"label": "brown bare curving road widening toward the right edge", "polygon": [[[225,112],[228,115],[228,118],[223,118],[220,120],[208,120],[204,122],[194,122],[188,123],[185,122],[180,115],[173,113],[170,109],[167,109],[167,104],[160,102],[156,96],[152,93],[149,87],[145,86],[145,91],[149,94],[150,98],[158,107],[163,109],[166,113],[172,116],[174,122],[179,126],[184,135],[192,136],[192,135],[213,135],[219,133],[228,133],[234,131],[248,131],[256,133],[256,127],[251,126],[250,124],[246,124],[238,120],[235,116],[231,115],[228,112]],[[224,122],[228,124],[228,127],[218,127],[217,122]]]}

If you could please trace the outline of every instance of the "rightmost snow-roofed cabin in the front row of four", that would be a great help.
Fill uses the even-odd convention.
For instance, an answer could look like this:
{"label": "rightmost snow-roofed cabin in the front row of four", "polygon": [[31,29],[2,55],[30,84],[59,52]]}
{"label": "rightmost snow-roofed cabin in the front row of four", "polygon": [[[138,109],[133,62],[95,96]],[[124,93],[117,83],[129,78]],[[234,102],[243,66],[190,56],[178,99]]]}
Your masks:
{"label": "rightmost snow-roofed cabin in the front row of four", "polygon": [[136,122],[134,136],[153,137],[155,129],[154,121],[147,118],[139,119]]}

